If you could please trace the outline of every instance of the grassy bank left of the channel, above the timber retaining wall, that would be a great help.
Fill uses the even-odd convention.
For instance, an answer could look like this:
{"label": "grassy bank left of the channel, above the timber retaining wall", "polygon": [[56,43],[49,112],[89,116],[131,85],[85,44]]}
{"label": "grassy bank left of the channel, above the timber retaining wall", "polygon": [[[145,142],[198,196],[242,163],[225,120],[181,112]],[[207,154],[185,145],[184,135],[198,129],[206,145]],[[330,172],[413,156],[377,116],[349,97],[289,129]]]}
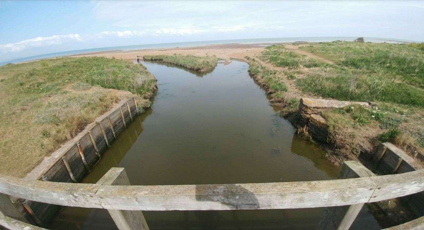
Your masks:
{"label": "grassy bank left of the channel, above the timber retaining wall", "polygon": [[0,67],[0,173],[22,177],[123,99],[150,105],[156,79],[117,59],[61,58]]}

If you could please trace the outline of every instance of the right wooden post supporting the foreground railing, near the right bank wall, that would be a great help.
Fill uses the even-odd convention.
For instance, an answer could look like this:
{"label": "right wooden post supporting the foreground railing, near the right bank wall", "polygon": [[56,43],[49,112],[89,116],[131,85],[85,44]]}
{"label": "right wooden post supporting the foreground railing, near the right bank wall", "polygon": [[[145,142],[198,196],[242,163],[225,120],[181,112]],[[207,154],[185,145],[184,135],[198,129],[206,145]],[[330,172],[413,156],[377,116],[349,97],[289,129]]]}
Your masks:
{"label": "right wooden post supporting the foreground railing, near the right bank wall", "polygon": [[[375,176],[375,174],[365,168],[360,162],[345,161],[338,179],[371,176]],[[325,208],[318,224],[318,230],[349,230],[364,204]]]}

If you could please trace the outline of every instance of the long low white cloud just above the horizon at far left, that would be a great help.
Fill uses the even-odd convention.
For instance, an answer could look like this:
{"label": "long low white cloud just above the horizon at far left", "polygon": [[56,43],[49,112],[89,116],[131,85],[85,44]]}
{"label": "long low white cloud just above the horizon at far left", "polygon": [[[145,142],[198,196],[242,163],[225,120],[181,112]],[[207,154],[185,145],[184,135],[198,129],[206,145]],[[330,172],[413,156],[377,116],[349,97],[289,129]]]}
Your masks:
{"label": "long low white cloud just above the horizon at far left", "polygon": [[31,39],[26,39],[20,42],[8,43],[0,45],[0,50],[3,53],[7,52],[19,52],[29,47],[40,47],[48,45],[58,45],[63,42],[70,41],[82,41],[83,39],[79,34],[65,34],[65,35],[53,35],[49,37],[35,37]]}

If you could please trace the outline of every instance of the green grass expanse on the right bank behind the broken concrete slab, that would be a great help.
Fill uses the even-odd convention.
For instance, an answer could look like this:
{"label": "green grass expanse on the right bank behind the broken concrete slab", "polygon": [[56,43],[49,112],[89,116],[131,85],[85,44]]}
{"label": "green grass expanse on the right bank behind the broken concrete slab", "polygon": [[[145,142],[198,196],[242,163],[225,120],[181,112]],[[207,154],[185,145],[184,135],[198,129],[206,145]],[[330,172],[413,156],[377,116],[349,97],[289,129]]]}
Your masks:
{"label": "green grass expanse on the right bank behind the broken concrete slab", "polygon": [[[297,87],[305,93],[346,101],[385,101],[424,108],[424,52],[408,45],[322,42],[301,49],[332,60],[313,61],[268,47],[260,56],[287,71],[301,71]],[[293,78],[293,77],[291,77]]]}

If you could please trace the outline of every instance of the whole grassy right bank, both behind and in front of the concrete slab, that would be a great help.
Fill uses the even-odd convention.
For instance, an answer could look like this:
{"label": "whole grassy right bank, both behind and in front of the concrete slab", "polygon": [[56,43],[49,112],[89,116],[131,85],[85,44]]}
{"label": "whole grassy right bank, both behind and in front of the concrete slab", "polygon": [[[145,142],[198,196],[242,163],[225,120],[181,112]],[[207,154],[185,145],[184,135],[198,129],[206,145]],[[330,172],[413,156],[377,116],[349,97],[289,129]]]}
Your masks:
{"label": "whole grassy right bank, both behind and in front of the concrete slab", "polygon": [[322,59],[282,45],[267,47],[257,58],[278,67],[276,78],[294,83],[301,94],[373,102],[374,107],[321,114],[329,123],[329,142],[335,149],[357,155],[364,143],[390,141],[424,152],[424,52],[419,44],[335,41],[298,47]]}

